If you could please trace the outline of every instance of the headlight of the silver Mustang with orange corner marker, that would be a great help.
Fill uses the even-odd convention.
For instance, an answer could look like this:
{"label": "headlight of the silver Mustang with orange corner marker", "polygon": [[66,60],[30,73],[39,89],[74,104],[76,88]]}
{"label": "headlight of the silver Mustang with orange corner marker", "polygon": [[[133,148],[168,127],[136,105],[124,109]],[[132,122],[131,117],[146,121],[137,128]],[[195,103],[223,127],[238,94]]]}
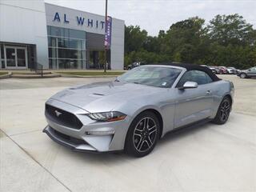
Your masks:
{"label": "headlight of the silver Mustang with orange corner marker", "polygon": [[126,118],[126,114],[118,111],[110,111],[103,113],[86,114],[91,119],[98,122],[115,122]]}

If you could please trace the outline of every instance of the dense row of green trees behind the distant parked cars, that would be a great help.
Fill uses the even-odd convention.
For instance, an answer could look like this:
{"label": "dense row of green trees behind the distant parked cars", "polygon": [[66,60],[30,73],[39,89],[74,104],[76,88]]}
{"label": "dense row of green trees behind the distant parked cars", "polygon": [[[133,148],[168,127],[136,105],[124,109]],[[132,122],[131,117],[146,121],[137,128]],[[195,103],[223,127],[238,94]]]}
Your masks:
{"label": "dense row of green trees behind the distant parked cars", "polygon": [[238,14],[216,15],[207,26],[202,18],[188,18],[154,37],[126,26],[125,65],[135,61],[248,68],[256,65],[256,30]]}

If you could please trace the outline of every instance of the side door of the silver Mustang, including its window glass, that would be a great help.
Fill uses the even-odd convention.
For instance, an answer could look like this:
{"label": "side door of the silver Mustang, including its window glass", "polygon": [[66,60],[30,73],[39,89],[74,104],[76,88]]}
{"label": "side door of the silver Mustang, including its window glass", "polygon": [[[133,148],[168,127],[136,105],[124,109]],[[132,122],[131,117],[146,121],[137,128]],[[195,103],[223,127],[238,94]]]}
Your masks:
{"label": "side door of the silver Mustang, including its window glass", "polygon": [[[198,87],[180,90],[185,82],[197,82]],[[213,90],[210,84],[213,80],[208,74],[199,70],[187,71],[178,82],[175,92],[177,101],[175,104],[174,128],[186,126],[212,115]]]}

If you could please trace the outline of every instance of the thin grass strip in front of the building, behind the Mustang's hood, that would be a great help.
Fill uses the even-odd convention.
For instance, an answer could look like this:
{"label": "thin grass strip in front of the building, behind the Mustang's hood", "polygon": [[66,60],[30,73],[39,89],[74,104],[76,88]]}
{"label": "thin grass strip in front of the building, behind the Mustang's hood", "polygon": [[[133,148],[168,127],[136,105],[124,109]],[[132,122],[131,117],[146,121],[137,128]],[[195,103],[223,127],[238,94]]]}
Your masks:
{"label": "thin grass strip in front of the building, behind the Mustang's hood", "polygon": [[99,76],[99,75],[120,75],[125,73],[124,71],[55,71],[58,74],[73,74],[81,76]]}

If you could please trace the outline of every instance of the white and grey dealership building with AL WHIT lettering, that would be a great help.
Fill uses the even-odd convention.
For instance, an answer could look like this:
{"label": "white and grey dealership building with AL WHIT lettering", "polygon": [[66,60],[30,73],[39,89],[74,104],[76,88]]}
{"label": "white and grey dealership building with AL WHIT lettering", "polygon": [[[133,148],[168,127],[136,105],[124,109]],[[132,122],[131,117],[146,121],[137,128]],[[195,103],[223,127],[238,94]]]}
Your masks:
{"label": "white and grey dealership building with AL WHIT lettering", "polygon": [[[117,18],[107,25],[111,70],[123,69],[124,26]],[[102,15],[43,0],[1,0],[0,69],[102,69],[105,27]]]}

